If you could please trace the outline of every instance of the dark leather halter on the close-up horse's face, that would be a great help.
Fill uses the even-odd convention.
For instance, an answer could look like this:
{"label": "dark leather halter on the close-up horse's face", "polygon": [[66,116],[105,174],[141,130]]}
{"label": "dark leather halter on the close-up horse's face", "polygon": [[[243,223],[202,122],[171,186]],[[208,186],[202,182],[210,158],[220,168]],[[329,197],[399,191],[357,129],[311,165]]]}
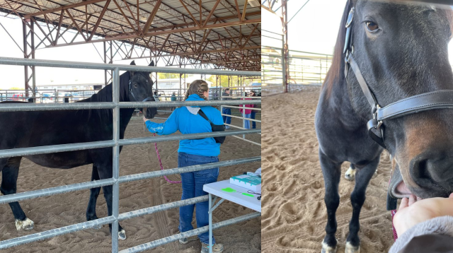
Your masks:
{"label": "dark leather halter on the close-up horse's face", "polygon": [[396,102],[392,102],[385,107],[381,107],[369,89],[365,78],[363,78],[360,68],[355,62],[352,54],[354,47],[352,46],[352,20],[354,19],[354,7],[351,8],[346,21],[346,39],[343,54],[345,54],[345,78],[348,81],[349,69],[355,73],[355,78],[360,84],[369,105],[373,118],[367,123],[369,137],[376,141],[380,146],[386,148],[384,144],[384,121],[396,119],[409,114],[423,112],[434,109],[453,109],[453,90],[437,90],[428,93],[414,95],[409,98],[404,98]]}

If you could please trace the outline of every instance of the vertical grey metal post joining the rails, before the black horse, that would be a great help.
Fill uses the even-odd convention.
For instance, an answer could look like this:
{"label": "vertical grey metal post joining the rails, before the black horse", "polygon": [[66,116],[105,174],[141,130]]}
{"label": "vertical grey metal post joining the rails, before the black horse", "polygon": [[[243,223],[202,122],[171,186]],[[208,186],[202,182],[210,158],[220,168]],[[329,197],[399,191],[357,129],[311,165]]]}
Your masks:
{"label": "vertical grey metal post joining the rails, before the black horse", "polygon": [[115,221],[112,223],[112,253],[118,252],[118,209],[120,206],[120,184],[117,181],[120,176],[120,71],[116,68],[113,71],[113,102],[116,104],[113,108],[113,200],[112,200],[112,215]]}

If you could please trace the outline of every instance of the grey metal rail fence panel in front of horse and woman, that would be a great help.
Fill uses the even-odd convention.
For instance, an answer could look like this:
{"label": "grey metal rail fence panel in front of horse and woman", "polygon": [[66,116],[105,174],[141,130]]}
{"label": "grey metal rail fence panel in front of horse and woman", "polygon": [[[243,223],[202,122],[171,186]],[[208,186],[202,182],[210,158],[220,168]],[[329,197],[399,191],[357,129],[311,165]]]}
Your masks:
{"label": "grey metal rail fence panel in front of horse and woman", "polygon": [[[118,222],[120,220],[126,220],[129,218],[135,218],[138,216],[144,216],[146,214],[156,213],[159,211],[165,211],[170,208],[176,208],[179,206],[185,206],[188,204],[195,204],[202,201],[207,201],[208,196],[199,196],[193,199],[185,199],[183,201],[175,201],[168,204],[162,204],[159,206],[151,206],[149,208],[142,208],[135,211],[126,213],[119,213],[119,193],[120,183],[132,182],[137,180],[145,180],[153,177],[161,177],[164,175],[180,174],[183,172],[194,172],[198,170],[206,170],[214,167],[224,167],[231,165],[239,165],[243,163],[252,163],[260,161],[261,157],[241,158],[236,160],[226,160],[218,163],[208,163],[204,165],[194,165],[188,167],[177,167],[169,170],[160,170],[154,172],[146,172],[135,175],[127,175],[120,177],[120,146],[144,144],[144,143],[156,143],[161,141],[176,141],[182,139],[197,139],[207,138],[216,136],[233,136],[239,134],[258,134],[261,129],[253,130],[235,130],[235,131],[222,131],[222,132],[209,132],[201,134],[178,134],[170,136],[159,136],[159,137],[145,137],[145,138],[132,138],[132,139],[120,139],[120,108],[137,108],[137,107],[177,107],[177,106],[194,106],[194,105],[241,105],[243,101],[172,101],[172,102],[120,102],[120,71],[144,71],[144,72],[166,72],[166,73],[196,73],[196,74],[212,74],[212,75],[241,75],[241,76],[260,76],[259,72],[252,71],[217,71],[217,70],[206,70],[206,69],[176,69],[168,67],[156,67],[156,66],[134,66],[134,65],[118,65],[118,64],[94,64],[86,62],[71,62],[71,61],[50,61],[50,60],[37,60],[37,59],[21,59],[21,58],[8,58],[0,57],[0,64],[4,65],[18,65],[18,66],[46,66],[46,67],[57,67],[57,68],[72,68],[72,69],[103,69],[113,71],[113,102],[84,102],[84,103],[49,103],[49,104],[0,104],[0,112],[15,112],[15,111],[42,111],[42,110],[89,110],[89,109],[113,109],[113,139],[109,141],[95,141],[89,143],[71,143],[62,144],[55,146],[40,146],[32,148],[15,148],[9,150],[0,150],[0,158],[10,158],[14,156],[24,155],[37,155],[42,153],[57,153],[64,151],[77,151],[91,148],[106,148],[113,147],[113,177],[105,180],[96,180],[92,182],[83,182],[79,184],[69,184],[60,187],[52,187],[47,189],[40,189],[30,192],[21,192],[18,194],[11,194],[6,196],[0,196],[0,204],[7,204],[14,201],[22,201],[25,199],[35,199],[40,196],[51,196],[55,194],[62,194],[66,192],[74,192],[81,189],[91,189],[94,187],[103,187],[105,185],[113,185],[113,213],[112,216],[105,218],[98,218],[97,220],[91,220],[84,223],[77,223],[74,225],[68,225],[63,228],[56,228],[47,230],[41,233],[34,233],[31,235],[25,235],[22,237],[16,237],[10,240],[0,241],[0,249],[6,249],[8,247],[14,247],[17,245],[23,245],[29,242],[35,242],[38,240],[44,240],[47,238],[55,237],[58,235],[64,235],[67,233],[74,233],[79,230],[86,230],[95,228],[98,225],[105,225],[112,223],[112,230],[118,230]],[[248,104],[260,105],[261,100],[248,100]],[[213,224],[213,229],[222,228],[226,225],[239,223],[243,220],[256,218],[260,216],[260,213],[250,213],[245,216],[224,220],[219,223]],[[185,233],[178,235],[172,235],[169,237],[161,238],[153,242],[147,242],[143,245],[137,245],[128,249],[124,249],[121,252],[142,252],[146,249],[152,249],[160,245],[167,244],[169,242],[176,241],[183,237],[190,237],[193,235],[199,235],[208,230],[207,226],[190,230]],[[112,233],[112,252],[118,252],[118,233]]]}

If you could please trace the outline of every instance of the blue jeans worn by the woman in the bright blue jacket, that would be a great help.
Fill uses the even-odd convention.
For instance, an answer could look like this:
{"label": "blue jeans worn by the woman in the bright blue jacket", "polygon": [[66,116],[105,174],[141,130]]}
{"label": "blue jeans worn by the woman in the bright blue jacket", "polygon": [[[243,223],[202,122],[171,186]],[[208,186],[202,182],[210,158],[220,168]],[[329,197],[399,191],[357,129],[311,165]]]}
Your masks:
{"label": "blue jeans worn by the woman in the bright blue jacket", "polygon": [[[178,167],[186,167],[191,165],[200,165],[205,163],[216,163],[219,161],[217,156],[203,156],[203,155],[190,155],[188,153],[178,153]],[[186,172],[181,174],[181,181],[183,182],[183,196],[181,200],[195,198],[196,196],[207,195],[207,192],[203,191],[203,185],[217,182],[219,177],[219,168],[208,170],[200,170],[196,172]],[[207,211],[209,210],[209,202],[200,202],[188,206],[181,206],[179,208],[179,231],[184,233],[189,230],[193,230],[193,208],[197,206],[195,218],[197,219],[197,228],[209,225],[209,216]],[[209,244],[209,232],[198,235],[200,241]],[[214,236],[212,237],[212,243],[215,243]]]}

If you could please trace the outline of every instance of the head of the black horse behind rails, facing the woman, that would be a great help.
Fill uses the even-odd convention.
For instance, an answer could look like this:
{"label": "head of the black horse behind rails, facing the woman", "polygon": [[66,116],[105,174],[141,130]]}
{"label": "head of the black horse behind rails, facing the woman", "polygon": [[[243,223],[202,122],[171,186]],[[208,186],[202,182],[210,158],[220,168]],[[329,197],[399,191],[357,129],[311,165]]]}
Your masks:
{"label": "head of the black horse behind rails, facing the woman", "polygon": [[[135,65],[135,61],[130,63]],[[154,61],[148,66],[154,66]],[[154,82],[151,80],[151,72],[130,72],[130,81],[129,81],[129,99],[134,102],[145,102],[145,101],[154,101],[153,97],[153,85]],[[141,109],[144,114],[144,117],[147,119],[152,119],[157,114],[156,107],[144,107]]]}

